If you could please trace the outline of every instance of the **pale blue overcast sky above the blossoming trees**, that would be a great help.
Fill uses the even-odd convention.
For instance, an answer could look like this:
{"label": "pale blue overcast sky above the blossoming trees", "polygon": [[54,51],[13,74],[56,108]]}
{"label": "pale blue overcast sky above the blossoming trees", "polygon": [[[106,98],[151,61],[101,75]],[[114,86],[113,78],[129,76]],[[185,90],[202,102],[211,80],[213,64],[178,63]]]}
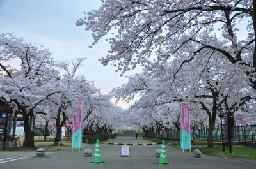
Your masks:
{"label": "pale blue overcast sky above the blossoming trees", "polygon": [[[13,32],[28,43],[41,44],[49,48],[58,61],[88,58],[77,75],[93,80],[107,93],[122,86],[127,78],[120,77],[110,64],[103,66],[98,61],[106,56],[109,44],[102,39],[88,48],[93,42],[91,32],[76,26],[76,21],[84,17],[84,11],[97,10],[100,4],[100,0],[0,0],[0,33]],[[123,103],[119,105],[127,108]]]}

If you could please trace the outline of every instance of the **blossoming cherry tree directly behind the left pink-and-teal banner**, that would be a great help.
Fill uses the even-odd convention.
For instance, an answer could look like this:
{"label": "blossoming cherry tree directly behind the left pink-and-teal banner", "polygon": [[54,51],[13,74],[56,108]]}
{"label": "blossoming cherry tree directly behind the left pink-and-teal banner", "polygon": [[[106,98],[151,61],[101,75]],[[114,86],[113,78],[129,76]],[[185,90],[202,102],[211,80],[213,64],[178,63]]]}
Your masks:
{"label": "blossoming cherry tree directly behind the left pink-and-teal banner", "polygon": [[77,58],[76,61],[72,61],[71,68],[68,68],[68,62],[63,61],[59,64],[59,67],[66,71],[66,74],[58,82],[61,91],[48,99],[56,107],[54,111],[56,119],[56,138],[54,142],[60,142],[61,128],[65,126],[68,119],[72,121],[78,101],[86,102],[91,95],[99,92],[92,81],[88,81],[83,75],[75,76],[83,61],[84,59]]}

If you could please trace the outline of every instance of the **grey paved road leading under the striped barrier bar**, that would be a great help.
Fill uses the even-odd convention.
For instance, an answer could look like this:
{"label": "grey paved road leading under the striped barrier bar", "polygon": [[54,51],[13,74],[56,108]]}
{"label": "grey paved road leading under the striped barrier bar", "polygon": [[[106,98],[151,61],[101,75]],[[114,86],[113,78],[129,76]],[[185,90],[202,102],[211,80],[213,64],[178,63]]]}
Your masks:
{"label": "grey paved road leading under the striped barrier bar", "polygon": [[[118,137],[108,143],[153,143],[142,138]],[[92,165],[92,157],[84,157],[84,149],[95,151],[95,145],[86,145],[82,151],[46,152],[36,157],[35,152],[0,152],[0,168],[109,168],[109,169],[153,169],[153,168],[207,168],[245,169],[256,168],[256,161],[249,159],[222,159],[202,155],[194,158],[192,153],[166,146],[167,161],[172,165],[156,165],[159,161],[154,152],[161,145],[130,145],[129,156],[121,156],[121,145],[100,144],[102,165]],[[14,161],[13,161],[14,160]],[[7,162],[6,162],[7,161]]]}

